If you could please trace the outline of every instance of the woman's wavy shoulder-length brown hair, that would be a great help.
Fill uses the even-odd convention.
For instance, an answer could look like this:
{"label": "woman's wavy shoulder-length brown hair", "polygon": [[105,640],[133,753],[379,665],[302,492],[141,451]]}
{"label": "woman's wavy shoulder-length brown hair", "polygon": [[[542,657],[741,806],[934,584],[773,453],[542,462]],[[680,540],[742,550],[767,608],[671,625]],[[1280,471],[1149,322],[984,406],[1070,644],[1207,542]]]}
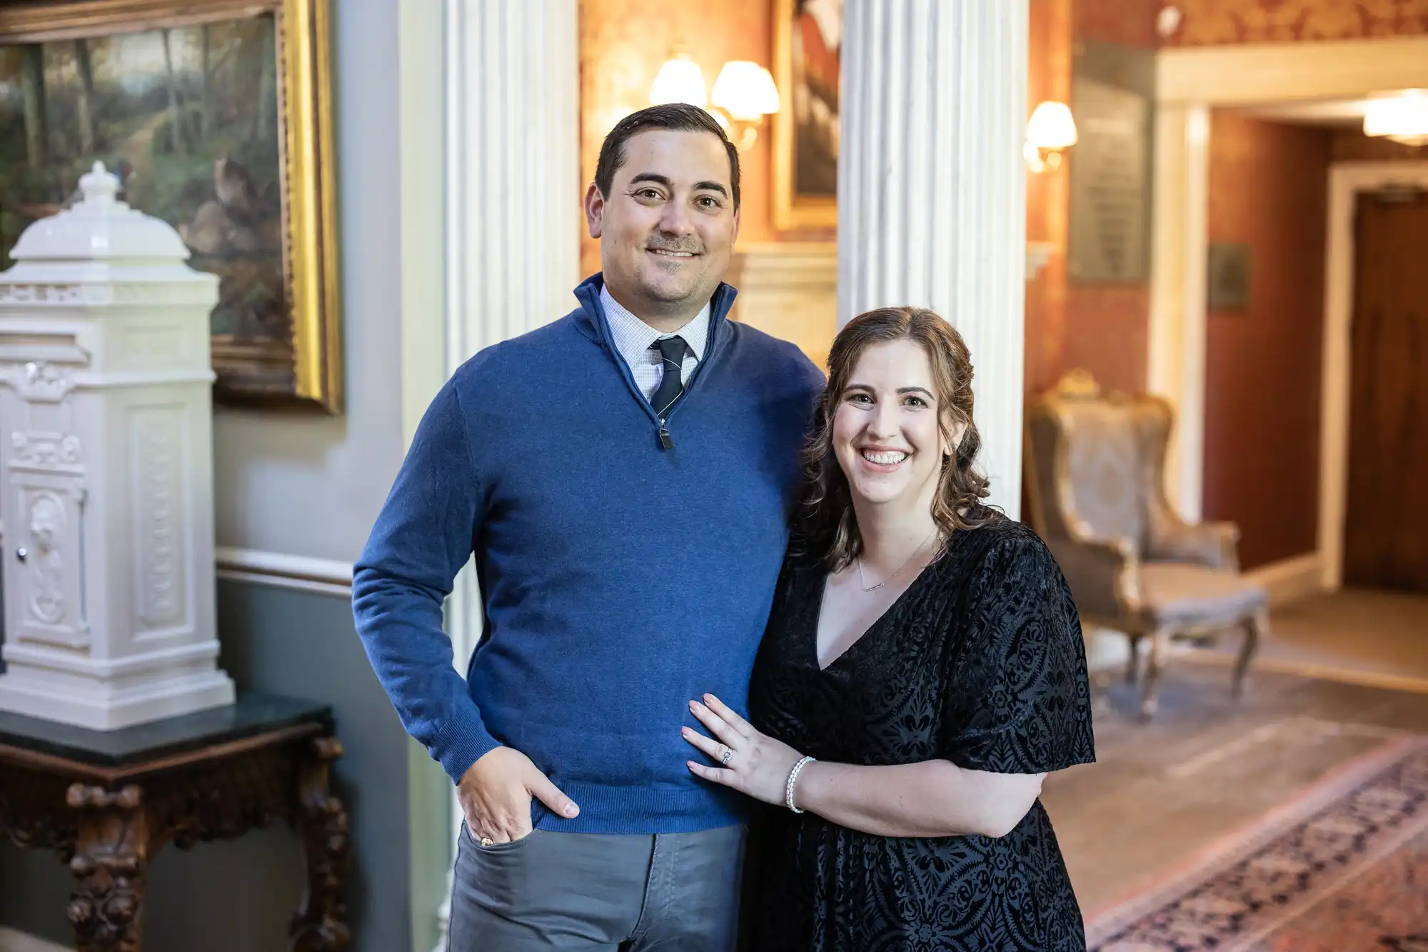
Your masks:
{"label": "woman's wavy shoulder-length brown hair", "polygon": [[942,535],[975,529],[998,517],[981,500],[987,477],[974,467],[981,435],[972,420],[972,363],[962,336],[925,307],[880,307],[858,314],[838,332],[828,354],[828,386],[818,400],[814,427],[803,447],[804,486],[795,522],[795,553],[818,557],[837,572],[863,552],[858,520],[853,512],[848,477],[833,450],[833,419],[854,367],[873,344],[911,340],[927,352],[941,415],[942,436],[965,423],[961,443],[942,457],[942,472],[932,497],[932,519]]}

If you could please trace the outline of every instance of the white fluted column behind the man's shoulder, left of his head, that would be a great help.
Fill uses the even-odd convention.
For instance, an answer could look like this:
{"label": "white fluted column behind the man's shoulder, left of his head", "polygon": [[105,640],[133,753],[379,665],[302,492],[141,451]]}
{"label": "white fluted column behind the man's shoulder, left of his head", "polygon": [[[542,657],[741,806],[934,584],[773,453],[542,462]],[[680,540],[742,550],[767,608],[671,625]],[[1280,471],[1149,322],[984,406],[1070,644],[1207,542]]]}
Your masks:
{"label": "white fluted column behind the man's shoulder, left of his head", "polygon": [[[483,347],[574,307],[584,217],[577,0],[444,0],[444,14],[450,375]],[[481,636],[471,565],[447,602],[447,630],[464,675]],[[453,795],[453,830],[460,819]]]}

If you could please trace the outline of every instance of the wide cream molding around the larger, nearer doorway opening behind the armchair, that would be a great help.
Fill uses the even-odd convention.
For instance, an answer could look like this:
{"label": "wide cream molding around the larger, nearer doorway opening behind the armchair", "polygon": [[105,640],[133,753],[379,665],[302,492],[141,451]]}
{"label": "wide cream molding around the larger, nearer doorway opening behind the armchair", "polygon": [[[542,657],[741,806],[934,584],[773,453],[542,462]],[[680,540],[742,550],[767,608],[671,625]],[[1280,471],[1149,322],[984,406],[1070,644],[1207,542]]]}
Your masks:
{"label": "wide cream molding around the larger, nearer doorway opening behind the armchair", "polygon": [[1428,37],[1165,49],[1157,53],[1147,386],[1177,415],[1167,490],[1198,519],[1204,477],[1210,110],[1428,86]]}

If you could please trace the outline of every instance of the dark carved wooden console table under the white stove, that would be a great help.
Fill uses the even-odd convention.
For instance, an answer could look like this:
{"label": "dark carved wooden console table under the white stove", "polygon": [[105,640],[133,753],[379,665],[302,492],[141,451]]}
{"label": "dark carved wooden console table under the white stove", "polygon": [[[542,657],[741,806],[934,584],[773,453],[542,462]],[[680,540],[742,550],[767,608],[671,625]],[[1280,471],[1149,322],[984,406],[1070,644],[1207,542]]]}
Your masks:
{"label": "dark carved wooden console table under the white stove", "polygon": [[69,863],[79,952],[139,952],[144,875],[164,843],[286,819],[307,858],[291,949],[340,952],[347,810],[328,765],[341,752],[330,709],[271,695],[109,732],[0,713],[0,835]]}

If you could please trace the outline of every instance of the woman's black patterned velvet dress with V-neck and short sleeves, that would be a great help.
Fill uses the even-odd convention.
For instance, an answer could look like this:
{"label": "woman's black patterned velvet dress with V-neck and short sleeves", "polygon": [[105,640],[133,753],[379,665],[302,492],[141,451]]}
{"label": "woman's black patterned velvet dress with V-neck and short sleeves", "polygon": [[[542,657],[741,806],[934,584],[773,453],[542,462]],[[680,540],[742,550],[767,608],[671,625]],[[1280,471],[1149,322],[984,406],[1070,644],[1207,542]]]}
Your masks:
{"label": "woman's black patterned velvet dress with V-neck and short sleeves", "polygon": [[[1095,759],[1075,605],[1028,527],[1001,517],[954,533],[820,670],[825,577],[808,560],[784,565],[750,690],[760,730],[837,763],[1041,773]],[[1000,839],[873,836],[767,808],[747,869],[755,952],[1085,948],[1041,800]]]}

